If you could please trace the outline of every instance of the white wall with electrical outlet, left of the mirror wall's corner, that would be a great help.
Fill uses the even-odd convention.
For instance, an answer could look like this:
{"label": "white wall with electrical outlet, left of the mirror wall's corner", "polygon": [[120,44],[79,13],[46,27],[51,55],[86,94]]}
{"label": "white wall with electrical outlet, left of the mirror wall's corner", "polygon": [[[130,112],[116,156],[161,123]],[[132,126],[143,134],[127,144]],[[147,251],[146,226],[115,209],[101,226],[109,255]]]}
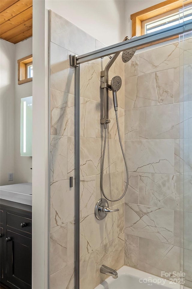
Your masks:
{"label": "white wall with electrical outlet, left of the mirror wall's corner", "polygon": [[14,44],[0,39],[0,185],[14,172]]}

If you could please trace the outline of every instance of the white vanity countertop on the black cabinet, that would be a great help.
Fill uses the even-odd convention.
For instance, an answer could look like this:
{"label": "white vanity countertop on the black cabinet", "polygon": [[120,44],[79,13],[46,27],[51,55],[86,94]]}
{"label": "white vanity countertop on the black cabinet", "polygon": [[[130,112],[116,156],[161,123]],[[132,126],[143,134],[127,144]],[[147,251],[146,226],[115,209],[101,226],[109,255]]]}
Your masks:
{"label": "white vanity countertop on the black cabinet", "polygon": [[0,186],[0,199],[32,206],[32,183]]}

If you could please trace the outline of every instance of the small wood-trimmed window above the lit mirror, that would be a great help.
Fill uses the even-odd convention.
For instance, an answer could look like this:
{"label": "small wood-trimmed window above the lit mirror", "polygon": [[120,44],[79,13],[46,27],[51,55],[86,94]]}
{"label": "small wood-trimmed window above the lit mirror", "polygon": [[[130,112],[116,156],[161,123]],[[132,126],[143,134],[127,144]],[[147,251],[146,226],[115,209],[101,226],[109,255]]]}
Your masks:
{"label": "small wood-trimmed window above the lit mirror", "polygon": [[33,80],[33,57],[32,54],[23,57],[18,63],[18,84],[23,84]]}

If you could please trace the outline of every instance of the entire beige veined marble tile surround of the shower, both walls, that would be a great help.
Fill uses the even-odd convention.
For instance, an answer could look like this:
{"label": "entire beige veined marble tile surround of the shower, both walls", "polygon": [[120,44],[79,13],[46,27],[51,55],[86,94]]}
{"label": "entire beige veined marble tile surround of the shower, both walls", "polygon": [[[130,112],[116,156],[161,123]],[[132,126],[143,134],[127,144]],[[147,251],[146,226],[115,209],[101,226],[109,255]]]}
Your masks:
{"label": "entire beige veined marble tile surround of the shower, both walls", "polygon": [[[51,289],[74,288],[74,69],[70,54],[103,47],[72,23],[51,13],[50,110],[50,282]],[[118,92],[119,123],[129,166],[125,200],[109,202],[119,212],[95,219],[101,198],[100,170],[103,149],[100,72],[109,61],[81,65],[80,79],[80,288],[93,289],[104,281],[102,264],[119,269],[132,266],[152,274],[179,271],[182,218],[192,218],[191,109],[189,82],[191,42],[186,41],[180,83],[181,49],[171,44],[136,54],[123,64],[118,57],[109,78],[122,77]],[[187,58],[188,55],[189,57]],[[125,79],[125,82],[124,82]],[[104,189],[117,198],[124,189],[125,168],[116,129],[113,96],[109,95]],[[182,120],[182,121],[181,121]],[[116,152],[116,154],[114,154]],[[181,177],[180,173],[184,173]],[[181,191],[184,198],[181,198]],[[184,208],[184,213],[180,213]],[[191,286],[190,231],[185,228],[184,259]]]}

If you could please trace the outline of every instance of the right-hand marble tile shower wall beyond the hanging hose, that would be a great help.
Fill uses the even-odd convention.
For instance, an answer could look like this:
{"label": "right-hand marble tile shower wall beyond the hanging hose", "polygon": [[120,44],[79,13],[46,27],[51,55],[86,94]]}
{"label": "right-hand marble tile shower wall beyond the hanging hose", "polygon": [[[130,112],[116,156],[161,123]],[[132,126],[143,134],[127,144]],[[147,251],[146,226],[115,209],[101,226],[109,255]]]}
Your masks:
{"label": "right-hand marble tile shower wall beyond the hanging hose", "polygon": [[141,51],[125,64],[125,154],[130,170],[125,265],[159,276],[161,271],[179,272],[184,244],[190,287],[191,53],[192,41],[185,39],[180,47],[175,43]]}

